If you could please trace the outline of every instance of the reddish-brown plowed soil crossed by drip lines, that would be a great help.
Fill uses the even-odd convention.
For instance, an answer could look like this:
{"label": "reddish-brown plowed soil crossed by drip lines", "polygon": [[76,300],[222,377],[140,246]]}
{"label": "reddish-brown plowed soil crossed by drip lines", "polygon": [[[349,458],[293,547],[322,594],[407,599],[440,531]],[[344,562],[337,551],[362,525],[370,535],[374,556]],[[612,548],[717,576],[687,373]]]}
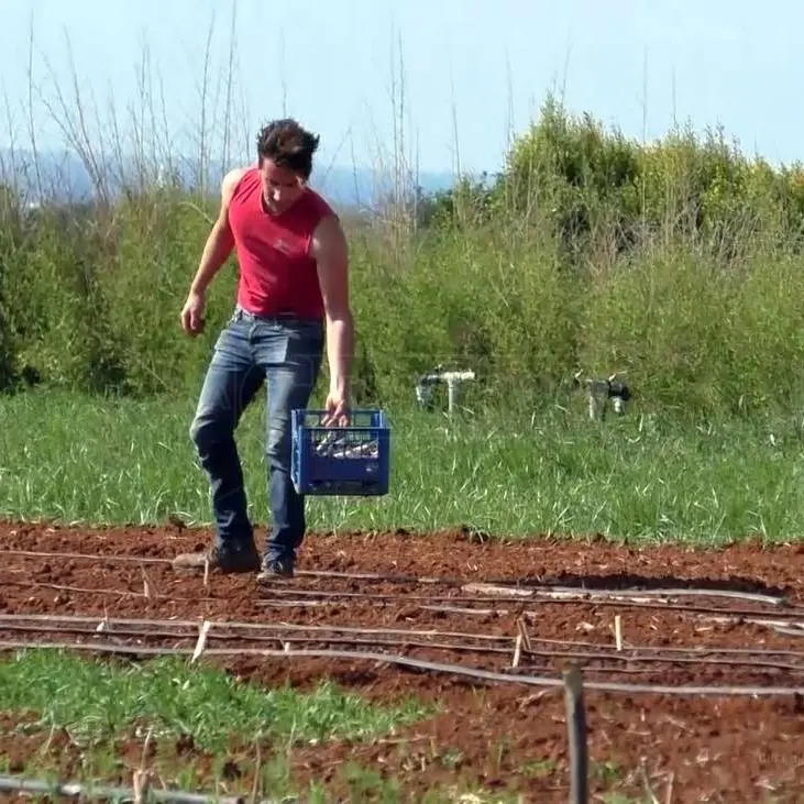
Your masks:
{"label": "reddish-brown plowed soil crossed by drip lines", "polygon": [[[0,647],[191,654],[207,620],[202,661],[255,684],[329,676],[372,700],[436,703],[393,740],[294,752],[302,782],[351,758],[411,801],[463,779],[566,802],[562,671],[575,663],[593,800],[804,801],[802,546],[312,533],[297,576],[264,586],[172,566],[209,538],[0,525]],[[36,749],[0,728],[12,770]]]}

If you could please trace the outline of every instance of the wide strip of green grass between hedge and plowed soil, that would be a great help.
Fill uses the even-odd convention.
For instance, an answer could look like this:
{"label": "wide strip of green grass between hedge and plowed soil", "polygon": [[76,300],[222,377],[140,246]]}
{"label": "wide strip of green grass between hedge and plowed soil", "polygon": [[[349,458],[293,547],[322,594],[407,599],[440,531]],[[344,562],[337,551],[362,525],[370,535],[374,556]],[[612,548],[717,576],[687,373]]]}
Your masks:
{"label": "wide strip of green grass between hedge and plowed soil", "polygon": [[[577,404],[575,404],[577,403]],[[191,450],[195,400],[103,401],[30,393],[0,401],[0,516],[208,522]],[[252,515],[267,520],[264,403],[239,431]],[[804,522],[801,422],[599,422],[570,408],[494,417],[389,410],[392,491],[310,498],[313,528],[472,528],[717,543],[796,538]]]}

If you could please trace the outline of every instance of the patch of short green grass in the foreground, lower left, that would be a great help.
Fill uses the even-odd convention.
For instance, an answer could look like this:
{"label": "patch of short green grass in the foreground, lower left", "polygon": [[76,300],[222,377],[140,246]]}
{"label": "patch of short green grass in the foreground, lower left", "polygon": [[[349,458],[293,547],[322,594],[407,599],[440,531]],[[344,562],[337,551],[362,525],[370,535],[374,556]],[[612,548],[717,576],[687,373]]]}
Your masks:
{"label": "patch of short green grass in the foreground, lower left", "polygon": [[0,711],[33,711],[43,729],[65,728],[81,742],[102,742],[137,724],[156,737],[191,735],[212,752],[225,750],[234,735],[246,741],[370,739],[426,713],[414,702],[373,706],[330,682],[310,694],[261,690],[174,658],[112,663],[49,650],[0,662]]}

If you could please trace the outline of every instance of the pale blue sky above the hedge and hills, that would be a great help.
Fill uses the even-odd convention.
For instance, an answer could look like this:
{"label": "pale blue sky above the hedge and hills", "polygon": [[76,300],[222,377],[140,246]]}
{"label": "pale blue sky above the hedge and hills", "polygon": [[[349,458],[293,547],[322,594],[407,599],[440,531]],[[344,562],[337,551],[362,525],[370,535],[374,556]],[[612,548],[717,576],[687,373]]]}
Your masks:
{"label": "pale blue sky above the hedge and hills", "polygon": [[210,26],[208,102],[223,109],[233,8],[238,156],[288,113],[321,134],[327,163],[387,166],[404,111],[409,164],[494,172],[550,90],[635,137],[675,115],[774,162],[804,156],[804,4],[782,0],[0,0],[0,145],[30,142],[33,25],[40,146],[63,143],[45,101],[73,97],[70,59],[91,135],[109,136],[110,108],[124,129],[147,48],[159,129],[191,151]]}

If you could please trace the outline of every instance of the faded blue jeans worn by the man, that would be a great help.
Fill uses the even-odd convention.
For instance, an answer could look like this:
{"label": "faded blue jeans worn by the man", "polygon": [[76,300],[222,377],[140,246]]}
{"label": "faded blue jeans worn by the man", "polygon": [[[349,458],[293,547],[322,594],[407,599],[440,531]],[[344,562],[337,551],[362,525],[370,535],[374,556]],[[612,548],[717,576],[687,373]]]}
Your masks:
{"label": "faded blue jeans worn by the man", "polygon": [[290,411],[307,407],[323,346],[323,321],[256,318],[240,308],[220,333],[190,426],[211,486],[219,550],[254,543],[234,430],[267,381],[264,449],[273,527],[265,558],[295,558],[307,526],[304,497],[290,480]]}

